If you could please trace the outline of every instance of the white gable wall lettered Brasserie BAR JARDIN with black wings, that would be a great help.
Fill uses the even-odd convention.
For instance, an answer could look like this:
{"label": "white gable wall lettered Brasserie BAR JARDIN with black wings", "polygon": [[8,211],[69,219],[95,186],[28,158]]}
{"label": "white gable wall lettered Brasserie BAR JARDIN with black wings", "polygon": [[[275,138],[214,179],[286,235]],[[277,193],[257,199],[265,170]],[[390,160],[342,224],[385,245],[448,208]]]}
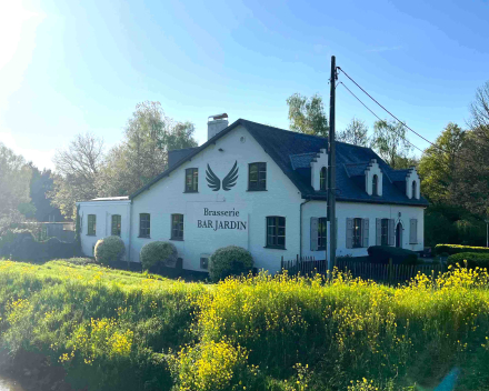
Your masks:
{"label": "white gable wall lettered Brasserie BAR JARDIN with black wings", "polygon": [[[244,138],[244,142],[241,141]],[[222,149],[222,151],[219,151]],[[212,191],[206,181],[206,169],[209,163],[221,181],[238,161],[239,177],[230,191]],[[248,191],[248,164],[267,163],[267,191]],[[199,169],[199,192],[184,193],[184,171],[187,168]],[[292,259],[299,253],[299,204],[302,202],[298,189],[275,163],[263,148],[248,131],[238,127],[216,144],[209,146],[191,161],[186,162],[170,177],[154,183],[149,190],[133,199],[131,238],[131,261],[139,261],[141,248],[153,240],[171,241],[171,214],[184,215],[183,241],[171,241],[183,259],[183,268],[200,269],[201,254],[211,254],[214,250],[237,244],[247,248],[255,259],[257,268],[272,272],[280,269],[280,258]],[[236,230],[212,230],[198,228],[196,211],[222,205],[222,209],[234,208],[240,218],[248,221],[248,232]],[[138,238],[139,214],[150,213],[151,238]],[[286,217],[286,250],[268,249],[266,245],[266,217]],[[214,220],[212,217],[210,220]]]}

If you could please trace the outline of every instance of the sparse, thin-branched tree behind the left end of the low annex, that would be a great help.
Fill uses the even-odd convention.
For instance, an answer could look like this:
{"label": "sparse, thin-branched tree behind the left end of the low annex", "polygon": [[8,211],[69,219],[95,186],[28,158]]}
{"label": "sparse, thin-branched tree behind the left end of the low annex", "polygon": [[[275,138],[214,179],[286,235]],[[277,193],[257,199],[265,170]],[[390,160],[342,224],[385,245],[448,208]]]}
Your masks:
{"label": "sparse, thin-branched tree behind the left end of the low annex", "polygon": [[97,177],[103,164],[103,141],[90,133],[78,134],[54,156],[54,188],[49,197],[67,218],[74,217],[74,202],[98,197]]}

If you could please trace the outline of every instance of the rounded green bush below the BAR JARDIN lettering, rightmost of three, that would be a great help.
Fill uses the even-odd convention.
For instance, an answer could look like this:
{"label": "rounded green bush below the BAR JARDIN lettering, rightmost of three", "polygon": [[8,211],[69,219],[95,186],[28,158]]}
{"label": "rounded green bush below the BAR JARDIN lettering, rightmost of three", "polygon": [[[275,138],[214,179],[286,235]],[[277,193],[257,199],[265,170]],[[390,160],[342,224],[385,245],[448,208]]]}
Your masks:
{"label": "rounded green bush below the BAR JARDIN lettering, rightmost of three", "polygon": [[248,274],[251,269],[253,269],[253,258],[241,247],[223,247],[210,257],[209,275],[212,281],[223,280],[229,275]]}

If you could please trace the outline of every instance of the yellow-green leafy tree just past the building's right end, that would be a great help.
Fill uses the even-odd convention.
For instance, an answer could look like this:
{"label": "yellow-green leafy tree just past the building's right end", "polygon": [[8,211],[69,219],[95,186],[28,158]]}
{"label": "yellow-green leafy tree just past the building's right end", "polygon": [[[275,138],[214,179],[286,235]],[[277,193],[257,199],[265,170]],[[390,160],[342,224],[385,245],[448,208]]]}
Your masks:
{"label": "yellow-green leafy tree just past the building's right end", "polygon": [[421,157],[418,171],[423,194],[431,202],[457,204],[457,186],[460,182],[460,153],[466,132],[450,122]]}

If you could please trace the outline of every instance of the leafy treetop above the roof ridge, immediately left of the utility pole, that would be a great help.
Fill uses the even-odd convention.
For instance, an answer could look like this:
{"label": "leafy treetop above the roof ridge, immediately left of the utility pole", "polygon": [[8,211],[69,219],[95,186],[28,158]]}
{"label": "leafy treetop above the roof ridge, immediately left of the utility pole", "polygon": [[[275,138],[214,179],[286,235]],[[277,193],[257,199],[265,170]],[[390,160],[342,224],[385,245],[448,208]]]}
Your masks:
{"label": "leafy treetop above the roof ridge, immediately left of the utility pole", "polygon": [[319,94],[310,99],[295,93],[287,99],[289,106],[290,129],[306,134],[328,137],[328,119],[326,118],[322,98]]}

